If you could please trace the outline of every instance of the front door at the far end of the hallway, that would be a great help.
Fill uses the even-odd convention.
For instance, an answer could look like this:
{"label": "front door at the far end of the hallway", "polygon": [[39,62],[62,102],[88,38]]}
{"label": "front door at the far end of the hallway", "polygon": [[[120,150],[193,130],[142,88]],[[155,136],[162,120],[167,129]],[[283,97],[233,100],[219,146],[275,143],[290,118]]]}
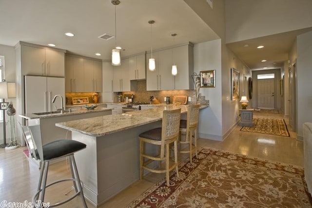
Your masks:
{"label": "front door at the far end of the hallway", "polygon": [[274,108],[274,79],[258,81],[258,108]]}

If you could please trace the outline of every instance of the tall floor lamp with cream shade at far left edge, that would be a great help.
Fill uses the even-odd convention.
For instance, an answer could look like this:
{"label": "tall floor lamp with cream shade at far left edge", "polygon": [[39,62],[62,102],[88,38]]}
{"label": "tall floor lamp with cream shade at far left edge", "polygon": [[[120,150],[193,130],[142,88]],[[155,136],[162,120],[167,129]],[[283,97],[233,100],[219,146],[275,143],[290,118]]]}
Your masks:
{"label": "tall floor lamp with cream shade at far left edge", "polygon": [[0,145],[1,148],[6,146],[6,132],[5,132],[5,110],[8,108],[9,103],[5,102],[7,98],[15,98],[16,97],[16,86],[15,83],[8,83],[5,80],[0,82],[0,110],[2,110],[3,117],[3,145]]}

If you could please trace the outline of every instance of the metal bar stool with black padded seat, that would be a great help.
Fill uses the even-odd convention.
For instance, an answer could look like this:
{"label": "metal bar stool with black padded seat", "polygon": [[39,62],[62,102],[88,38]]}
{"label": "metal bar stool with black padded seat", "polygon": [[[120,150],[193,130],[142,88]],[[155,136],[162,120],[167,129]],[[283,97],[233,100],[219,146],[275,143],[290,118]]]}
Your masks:
{"label": "metal bar stool with black padded seat", "polygon": [[[39,199],[39,195],[41,192],[41,196],[40,196],[41,204],[39,206],[40,207],[44,206],[45,204],[44,194],[45,194],[45,189],[47,187],[50,187],[60,182],[73,181],[74,188],[76,191],[75,195],[71,196],[70,198],[62,202],[56,203],[54,205],[50,205],[49,207],[52,208],[52,207],[56,207],[59,205],[63,205],[69,202],[70,200],[74,199],[76,196],[80,195],[84,208],[87,208],[87,204],[84,199],[83,191],[82,191],[83,183],[82,181],[80,181],[80,178],[78,175],[78,169],[77,169],[75,158],[74,158],[74,153],[81,149],[86,148],[86,145],[75,140],[62,139],[62,140],[53,141],[51,143],[48,143],[42,146],[40,125],[33,125],[33,126],[20,125],[20,126],[23,130],[24,139],[26,141],[31,157],[41,162],[39,184],[38,184],[37,192],[34,194],[32,198],[32,203],[34,205],[38,204],[37,201]],[[72,178],[58,180],[47,185],[46,182],[47,182],[47,176],[48,176],[49,162],[51,160],[59,159],[61,157],[69,158]]]}

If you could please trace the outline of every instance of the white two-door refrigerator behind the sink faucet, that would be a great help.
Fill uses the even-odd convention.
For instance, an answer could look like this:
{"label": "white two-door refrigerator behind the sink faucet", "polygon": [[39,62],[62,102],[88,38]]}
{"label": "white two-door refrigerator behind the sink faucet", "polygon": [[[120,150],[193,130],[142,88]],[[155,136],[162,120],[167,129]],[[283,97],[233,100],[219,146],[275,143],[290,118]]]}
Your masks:
{"label": "white two-door refrigerator behind the sink faucet", "polygon": [[63,97],[65,106],[65,78],[25,76],[25,113],[54,111],[54,106],[60,108],[59,98],[52,104],[55,95]]}

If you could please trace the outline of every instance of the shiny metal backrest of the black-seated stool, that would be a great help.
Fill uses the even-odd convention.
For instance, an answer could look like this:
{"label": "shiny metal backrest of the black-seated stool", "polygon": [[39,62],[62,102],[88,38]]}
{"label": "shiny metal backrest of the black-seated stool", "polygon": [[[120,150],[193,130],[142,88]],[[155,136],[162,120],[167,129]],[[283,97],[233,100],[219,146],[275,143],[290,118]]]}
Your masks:
{"label": "shiny metal backrest of the black-seated stool", "polygon": [[24,139],[27,144],[29,154],[35,160],[43,161],[42,140],[40,125],[21,125]]}

